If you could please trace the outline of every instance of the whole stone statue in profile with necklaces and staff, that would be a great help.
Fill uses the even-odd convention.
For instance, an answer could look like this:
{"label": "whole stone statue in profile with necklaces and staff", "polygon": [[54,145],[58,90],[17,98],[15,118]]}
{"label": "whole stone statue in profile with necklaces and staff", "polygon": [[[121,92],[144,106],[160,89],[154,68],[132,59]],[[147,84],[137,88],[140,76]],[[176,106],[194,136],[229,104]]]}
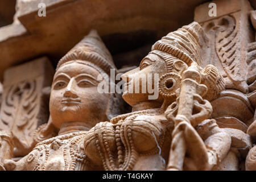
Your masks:
{"label": "whole stone statue in profile with necklaces and staff", "polygon": [[[204,61],[201,55],[207,43],[196,22],[156,42],[139,68],[122,75],[127,82],[123,99],[133,112],[98,123],[86,134],[88,158],[105,170],[211,169],[220,164],[230,150],[231,137],[208,119],[209,101],[219,96],[225,83],[213,65],[204,69],[197,65]],[[157,73],[159,83],[136,79],[144,73],[150,77]],[[137,85],[142,91],[148,82],[158,87],[155,100],[148,98],[152,95],[148,90],[134,92]]]}

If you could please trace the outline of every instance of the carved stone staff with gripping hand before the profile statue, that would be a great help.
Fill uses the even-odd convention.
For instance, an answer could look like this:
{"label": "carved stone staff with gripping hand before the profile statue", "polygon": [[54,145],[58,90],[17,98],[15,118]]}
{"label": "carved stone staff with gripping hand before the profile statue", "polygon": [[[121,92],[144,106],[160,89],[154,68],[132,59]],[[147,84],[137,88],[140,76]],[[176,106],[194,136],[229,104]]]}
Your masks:
{"label": "carved stone staff with gripping hand before the profile statue", "polygon": [[[172,133],[167,170],[182,170],[186,152],[192,150],[194,154],[197,153],[195,150],[200,150],[200,163],[202,165],[199,169],[209,169],[207,148],[194,129],[196,125],[210,116],[212,110],[210,103],[201,98],[207,93],[207,86],[200,83],[200,67],[196,63],[192,63],[182,74],[177,102],[170,105],[166,110],[166,113],[174,114],[174,105],[176,105],[176,116],[172,116],[171,119],[175,122],[175,129]],[[167,118],[169,119],[170,115],[167,115]]]}

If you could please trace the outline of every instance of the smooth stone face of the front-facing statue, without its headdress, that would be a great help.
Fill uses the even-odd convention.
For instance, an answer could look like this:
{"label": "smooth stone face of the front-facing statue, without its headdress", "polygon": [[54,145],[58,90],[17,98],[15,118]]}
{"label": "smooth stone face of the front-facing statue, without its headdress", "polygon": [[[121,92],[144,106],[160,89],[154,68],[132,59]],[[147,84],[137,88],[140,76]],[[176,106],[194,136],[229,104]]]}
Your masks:
{"label": "smooth stone face of the front-facing statue, without its headdress", "polygon": [[108,120],[100,114],[108,107],[109,95],[97,92],[99,74],[89,65],[76,62],[57,70],[49,104],[53,125],[60,128],[66,122],[86,121],[88,127],[93,127],[97,120]]}

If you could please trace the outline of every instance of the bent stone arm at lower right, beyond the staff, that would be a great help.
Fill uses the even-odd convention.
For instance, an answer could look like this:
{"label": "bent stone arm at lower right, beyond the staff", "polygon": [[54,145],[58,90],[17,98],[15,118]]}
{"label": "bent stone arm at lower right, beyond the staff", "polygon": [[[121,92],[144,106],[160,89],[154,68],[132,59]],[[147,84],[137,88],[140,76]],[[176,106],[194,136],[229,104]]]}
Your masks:
{"label": "bent stone arm at lower right, beyond the staff", "polygon": [[221,129],[214,119],[205,120],[196,130],[207,147],[213,170],[238,170],[238,158],[245,158],[252,146],[249,135],[237,129]]}

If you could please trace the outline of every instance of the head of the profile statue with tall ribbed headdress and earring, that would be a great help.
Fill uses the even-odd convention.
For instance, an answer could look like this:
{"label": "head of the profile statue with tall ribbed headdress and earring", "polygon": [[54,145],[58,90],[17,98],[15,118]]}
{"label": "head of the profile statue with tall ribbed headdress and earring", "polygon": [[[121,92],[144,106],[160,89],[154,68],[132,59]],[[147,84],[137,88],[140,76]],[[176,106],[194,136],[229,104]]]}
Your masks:
{"label": "head of the profile statue with tall ribbed headdress and earring", "polygon": [[[127,92],[123,94],[123,99],[131,106],[150,101],[148,96],[152,93],[149,93],[148,89],[146,93],[134,93],[134,88],[139,85],[139,89],[142,90],[145,82],[138,77],[151,75],[150,78],[153,79],[148,80],[147,77],[146,85],[152,81],[152,88],[158,86],[157,91],[159,91],[159,96],[151,101],[161,105],[165,99],[175,100],[175,92],[180,87],[181,74],[192,63],[200,65],[207,48],[208,38],[197,22],[170,32],[152,46],[151,52],[142,59],[138,68],[122,75],[123,80],[127,82]],[[155,74],[158,75],[159,81],[154,81]],[[214,81],[217,82],[217,79]],[[131,87],[133,92],[129,92]]]}

